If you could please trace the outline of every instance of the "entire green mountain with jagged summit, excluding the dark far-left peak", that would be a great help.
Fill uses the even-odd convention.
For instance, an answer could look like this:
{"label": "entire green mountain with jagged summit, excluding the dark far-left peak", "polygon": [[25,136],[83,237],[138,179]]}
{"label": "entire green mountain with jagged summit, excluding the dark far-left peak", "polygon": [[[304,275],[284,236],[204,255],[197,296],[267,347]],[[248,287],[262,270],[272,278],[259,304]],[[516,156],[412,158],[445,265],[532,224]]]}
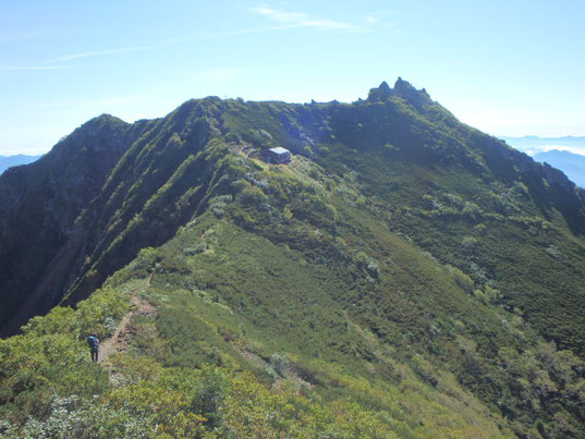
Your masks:
{"label": "entire green mountain with jagged summit, excluding the dark far-left peak", "polygon": [[[0,344],[10,428],[27,415],[49,428],[62,413],[51,394],[100,393],[74,408],[115,408],[109,425],[126,431],[130,411],[148,435],[180,436],[146,403],[175,392],[158,404],[187,419],[185,437],[584,434],[584,192],[560,171],[401,80],[351,105],[207,98],[112,125],[121,157],[59,211],[68,235],[25,313],[108,286]],[[277,145],[289,166],[258,159]],[[24,218],[14,206],[7,218]],[[134,319],[132,352],[113,364],[122,381],[15,367],[44,334],[44,358],[61,345],[74,375],[80,339],[113,333],[132,294],[157,317]]]}

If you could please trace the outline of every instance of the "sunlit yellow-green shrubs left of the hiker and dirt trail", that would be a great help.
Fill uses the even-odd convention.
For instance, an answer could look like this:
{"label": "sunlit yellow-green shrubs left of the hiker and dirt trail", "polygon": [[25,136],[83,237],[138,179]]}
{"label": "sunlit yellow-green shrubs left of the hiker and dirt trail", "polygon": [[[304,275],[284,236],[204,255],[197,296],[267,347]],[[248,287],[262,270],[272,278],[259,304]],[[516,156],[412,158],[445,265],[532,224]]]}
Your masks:
{"label": "sunlit yellow-green shrubs left of the hiker and dirt trail", "polygon": [[[97,291],[78,309],[53,308],[0,341],[0,413],[22,423],[45,418],[54,398],[88,398],[108,388],[107,374],[89,357],[85,338],[106,338],[127,312],[129,297],[117,290]],[[39,427],[40,428],[40,427]]]}

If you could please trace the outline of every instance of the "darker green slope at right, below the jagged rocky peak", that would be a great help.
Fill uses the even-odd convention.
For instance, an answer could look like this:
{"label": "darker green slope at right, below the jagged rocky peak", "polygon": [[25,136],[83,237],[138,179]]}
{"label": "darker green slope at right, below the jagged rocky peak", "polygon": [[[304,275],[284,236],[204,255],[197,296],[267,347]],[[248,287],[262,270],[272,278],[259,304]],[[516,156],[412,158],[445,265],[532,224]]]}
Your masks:
{"label": "darker green slope at right, below the jagged rocky peak", "polygon": [[[340,156],[325,160],[348,162],[348,155]],[[561,347],[581,352],[585,247],[562,217],[553,212],[548,221],[514,185],[490,187],[459,167],[429,170],[401,161],[370,153],[350,163],[365,194],[378,197],[376,208],[388,227],[461,268],[478,285],[499,290],[499,303],[515,308]],[[502,192],[511,195],[504,198]],[[470,202],[476,206],[465,212]]]}

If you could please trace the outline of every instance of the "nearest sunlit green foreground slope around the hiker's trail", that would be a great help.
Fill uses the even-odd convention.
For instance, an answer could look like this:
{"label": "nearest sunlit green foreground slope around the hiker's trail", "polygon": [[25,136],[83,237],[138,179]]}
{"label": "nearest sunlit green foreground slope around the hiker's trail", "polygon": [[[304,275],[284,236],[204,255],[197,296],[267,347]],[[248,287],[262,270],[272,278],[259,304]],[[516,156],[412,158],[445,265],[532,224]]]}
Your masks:
{"label": "nearest sunlit green foreground slope around the hiker's trail", "polygon": [[[184,254],[184,248],[200,244],[204,233],[205,252],[186,260],[176,257]],[[150,281],[145,282],[146,279],[139,277],[147,273],[153,264],[155,272]],[[75,428],[83,431],[85,427],[75,423],[75,415],[87,416],[85,411],[93,410],[110,413],[109,424],[101,425],[103,419],[94,420],[97,424],[94,428],[100,427],[103,431],[110,432],[108,428],[113,425],[130,435],[134,426],[124,416],[131,414],[139,416],[143,431],[153,431],[157,422],[163,431],[181,436],[182,431],[172,429],[180,424],[175,417],[172,423],[156,417],[161,416],[160,411],[172,410],[174,416],[178,412],[185,416],[203,414],[217,424],[215,430],[220,435],[240,432],[278,437],[276,424],[261,425],[259,422],[275,414],[283,431],[297,428],[301,437],[314,437],[318,432],[332,437],[500,437],[510,434],[503,427],[503,419],[463,390],[452,374],[432,369],[416,354],[410,358],[414,366],[410,366],[397,356],[392,346],[380,343],[368,330],[352,321],[326,289],[330,282],[339,280],[331,278],[322,267],[315,268],[295,251],[275,245],[228,221],[218,222],[204,216],[160,249],[142,252],[136,261],[118,272],[109,281],[107,291],[111,293],[106,303],[101,293],[82,303],[73,316],[65,309],[56,308],[48,317],[36,318],[25,334],[2,342],[0,351],[4,366],[13,364],[15,355],[26,352],[23,346],[33,343],[39,332],[45,333],[46,347],[37,352],[37,356],[44,363],[50,364],[49,353],[52,355],[60,349],[54,345],[53,337],[63,338],[68,345],[60,364],[63,376],[40,368],[40,376],[46,376],[52,385],[48,389],[44,389],[45,380],[36,385],[40,390],[33,393],[37,400],[33,406],[23,406],[33,394],[21,392],[20,399],[4,405],[4,416],[14,419],[7,413],[19,413],[15,408],[20,408],[23,414],[44,419],[52,410],[52,417],[41,426],[31,422],[26,425],[26,431],[36,432],[40,428],[51,431],[56,416],[64,416],[61,423],[73,428],[73,432]],[[129,300],[131,291],[155,303],[158,317],[156,321],[143,318],[133,322],[133,350],[114,359],[117,374],[122,378],[119,377],[114,388],[108,388],[102,375],[93,369],[84,356],[83,340],[76,338],[87,331],[88,325],[95,327],[97,324],[92,325],[88,310],[103,319],[120,318],[120,309],[124,309],[122,304]],[[114,301],[115,307],[108,306]],[[318,318],[312,320],[306,316],[307,306],[313,308],[312,317]],[[100,313],[100,307],[106,313]],[[109,309],[115,309],[115,314],[108,313]],[[82,313],[85,315],[80,315]],[[68,326],[64,333],[63,325]],[[100,337],[110,331],[106,327],[98,330]],[[134,355],[139,356],[134,359]],[[158,358],[160,366],[150,364],[153,358]],[[101,387],[90,390],[87,380],[72,378],[70,374],[80,364],[92,373],[89,382],[97,374]],[[209,365],[219,366],[219,369],[209,371]],[[203,377],[202,374],[184,377],[184,367],[203,367]],[[17,370],[5,367],[4,370],[4,391],[26,379],[26,366]],[[245,375],[246,371],[254,375]],[[207,380],[215,379],[214,374],[219,374],[224,381],[208,383]],[[425,374],[434,374],[439,383],[429,383]],[[198,386],[210,387],[204,389],[206,392],[221,390],[222,398],[235,398],[231,392],[242,391],[237,385],[246,389],[253,387],[248,398],[256,399],[253,411],[258,419],[246,426],[252,415],[237,412],[243,404],[240,400],[223,403],[217,413],[209,413],[205,406],[196,410],[188,403],[183,407],[179,400],[159,401],[159,408],[156,412],[147,410],[145,417],[144,392],[147,389],[155,392],[172,390],[168,376],[182,380],[181,390],[187,399],[197,398],[194,394],[203,391],[197,390]],[[284,400],[278,401],[282,405],[265,401],[268,395],[263,392],[269,388]],[[56,395],[71,397],[73,393],[83,397],[88,391],[101,394],[99,400],[89,403],[89,407],[76,401],[68,405],[62,400],[54,400]],[[44,398],[39,398],[39,393]],[[121,406],[120,401],[123,401]],[[64,404],[64,413],[61,410],[57,415],[54,404]],[[278,412],[271,414],[272,410]],[[209,423],[199,422],[207,428],[199,427],[197,434],[214,430]],[[196,424],[193,418],[190,425],[194,428]],[[184,436],[190,437],[188,434]]]}

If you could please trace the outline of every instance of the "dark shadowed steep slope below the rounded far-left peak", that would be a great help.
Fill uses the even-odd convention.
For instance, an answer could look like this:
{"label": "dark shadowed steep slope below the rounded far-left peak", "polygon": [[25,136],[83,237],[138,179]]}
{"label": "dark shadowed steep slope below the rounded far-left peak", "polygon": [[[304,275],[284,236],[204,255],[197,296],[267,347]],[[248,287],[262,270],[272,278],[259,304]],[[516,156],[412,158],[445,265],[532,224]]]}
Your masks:
{"label": "dark shadowed steep slope below the rounded far-left peak", "polygon": [[2,332],[13,332],[61,300],[71,257],[64,244],[75,232],[75,218],[143,125],[96,118],[37,162],[0,176]]}

